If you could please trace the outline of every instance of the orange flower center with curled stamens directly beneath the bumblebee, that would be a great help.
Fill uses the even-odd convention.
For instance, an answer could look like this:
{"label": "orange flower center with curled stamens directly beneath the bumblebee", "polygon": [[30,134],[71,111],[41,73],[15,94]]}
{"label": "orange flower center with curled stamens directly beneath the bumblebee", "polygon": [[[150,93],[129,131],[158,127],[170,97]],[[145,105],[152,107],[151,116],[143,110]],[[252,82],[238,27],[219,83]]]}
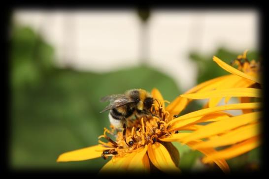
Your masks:
{"label": "orange flower center with curled stamens directly beneath the bumblebee", "polygon": [[[104,159],[107,156],[121,157],[150,143],[154,144],[161,136],[170,135],[171,133],[167,131],[167,122],[170,119],[170,114],[168,111],[165,111],[164,102],[154,103],[150,110],[151,116],[143,116],[127,121],[128,127],[126,128],[125,135],[123,131],[118,131],[114,134],[115,130],[113,127],[111,127],[111,130],[105,128],[104,134],[99,139],[105,138],[108,142],[105,143],[99,140],[99,143],[108,149],[103,150],[102,157]],[[116,140],[113,141],[108,134],[116,136]]]}

